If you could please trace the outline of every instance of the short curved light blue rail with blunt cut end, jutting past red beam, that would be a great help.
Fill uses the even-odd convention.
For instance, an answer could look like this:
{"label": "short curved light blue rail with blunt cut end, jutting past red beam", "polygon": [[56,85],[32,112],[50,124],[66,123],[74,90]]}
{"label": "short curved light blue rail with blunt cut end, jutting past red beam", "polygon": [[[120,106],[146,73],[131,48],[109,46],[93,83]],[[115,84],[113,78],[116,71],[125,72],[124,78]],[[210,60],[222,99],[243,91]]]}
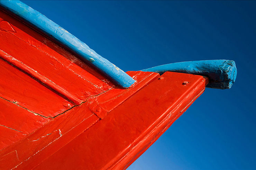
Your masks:
{"label": "short curved light blue rail with blunt cut end, jutting past red beam", "polygon": [[206,87],[226,89],[231,88],[236,80],[237,68],[231,60],[205,60],[171,63],[147,68],[142,71],[156,72],[163,74],[166,71],[198,74],[209,77],[209,84]]}

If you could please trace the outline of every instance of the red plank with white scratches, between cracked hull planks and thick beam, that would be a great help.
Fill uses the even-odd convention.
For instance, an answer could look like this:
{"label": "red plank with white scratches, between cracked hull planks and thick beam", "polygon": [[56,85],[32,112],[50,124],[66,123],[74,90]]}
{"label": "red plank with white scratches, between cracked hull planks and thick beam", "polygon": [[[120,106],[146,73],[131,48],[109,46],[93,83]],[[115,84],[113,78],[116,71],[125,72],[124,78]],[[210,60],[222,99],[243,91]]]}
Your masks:
{"label": "red plank with white scratches, between cracked hull planks and thick beam", "polygon": [[[51,156],[99,120],[86,104],[76,106],[55,117],[48,124],[45,124],[19,142],[3,149],[0,152],[0,160],[2,158],[8,159],[8,163],[14,164],[11,168],[17,166],[18,169],[33,169],[37,164]],[[16,164],[14,158],[5,158],[5,155],[14,150],[19,157],[19,161]],[[0,169],[8,170],[5,162],[0,161]]]}

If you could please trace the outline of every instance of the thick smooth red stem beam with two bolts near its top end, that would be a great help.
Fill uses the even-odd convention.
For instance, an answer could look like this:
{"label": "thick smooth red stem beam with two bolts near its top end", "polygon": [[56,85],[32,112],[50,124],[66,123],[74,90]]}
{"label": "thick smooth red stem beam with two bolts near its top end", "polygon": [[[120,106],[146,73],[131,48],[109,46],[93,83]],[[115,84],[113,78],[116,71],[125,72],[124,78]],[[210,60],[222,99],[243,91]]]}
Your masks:
{"label": "thick smooth red stem beam with two bolts near its top end", "polygon": [[166,72],[35,169],[126,169],[206,84],[202,76]]}

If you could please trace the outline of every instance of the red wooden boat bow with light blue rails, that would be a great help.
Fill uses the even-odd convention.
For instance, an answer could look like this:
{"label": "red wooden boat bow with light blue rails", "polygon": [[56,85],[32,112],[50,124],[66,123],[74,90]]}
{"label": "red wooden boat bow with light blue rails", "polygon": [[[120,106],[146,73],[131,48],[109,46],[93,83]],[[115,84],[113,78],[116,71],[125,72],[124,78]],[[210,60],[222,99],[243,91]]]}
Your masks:
{"label": "red wooden boat bow with light blue rails", "polygon": [[231,60],[124,72],[20,1],[0,1],[0,169],[126,169]]}

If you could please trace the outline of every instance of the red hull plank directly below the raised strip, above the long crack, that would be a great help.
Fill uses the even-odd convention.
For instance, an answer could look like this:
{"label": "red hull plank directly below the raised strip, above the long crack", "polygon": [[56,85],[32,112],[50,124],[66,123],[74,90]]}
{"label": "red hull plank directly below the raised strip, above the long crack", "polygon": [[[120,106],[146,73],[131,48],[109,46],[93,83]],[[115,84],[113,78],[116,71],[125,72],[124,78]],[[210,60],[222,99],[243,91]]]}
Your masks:
{"label": "red hull plank directly below the raised strip, above the long crack", "polygon": [[54,117],[74,106],[1,59],[0,67],[1,98],[45,117]]}

